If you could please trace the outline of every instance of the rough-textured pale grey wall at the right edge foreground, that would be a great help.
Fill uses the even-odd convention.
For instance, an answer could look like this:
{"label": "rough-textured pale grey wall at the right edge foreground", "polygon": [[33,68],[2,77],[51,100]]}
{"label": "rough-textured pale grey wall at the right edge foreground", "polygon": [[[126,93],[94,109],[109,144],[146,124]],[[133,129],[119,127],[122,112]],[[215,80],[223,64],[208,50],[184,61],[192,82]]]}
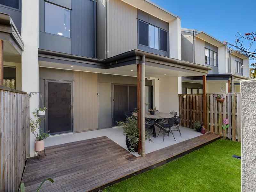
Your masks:
{"label": "rough-textured pale grey wall at the right edge foreground", "polygon": [[256,191],[256,80],[241,81],[242,180],[241,192]]}

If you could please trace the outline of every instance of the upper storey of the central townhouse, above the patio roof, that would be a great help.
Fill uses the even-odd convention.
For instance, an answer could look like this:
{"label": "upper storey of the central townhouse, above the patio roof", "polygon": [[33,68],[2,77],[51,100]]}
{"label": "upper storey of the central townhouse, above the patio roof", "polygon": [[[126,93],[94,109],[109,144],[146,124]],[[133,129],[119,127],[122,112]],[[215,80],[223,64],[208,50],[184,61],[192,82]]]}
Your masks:
{"label": "upper storey of the central townhouse, above the patio roof", "polygon": [[97,59],[139,49],[181,59],[180,18],[148,0],[39,2],[39,49]]}

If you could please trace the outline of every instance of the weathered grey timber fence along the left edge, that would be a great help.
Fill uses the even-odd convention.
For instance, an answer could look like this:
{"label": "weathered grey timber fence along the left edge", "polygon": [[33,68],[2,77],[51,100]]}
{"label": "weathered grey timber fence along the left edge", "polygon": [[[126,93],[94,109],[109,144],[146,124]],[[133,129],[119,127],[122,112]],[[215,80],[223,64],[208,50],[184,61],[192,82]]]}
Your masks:
{"label": "weathered grey timber fence along the left edge", "polygon": [[0,191],[18,191],[29,134],[29,95],[0,86]]}

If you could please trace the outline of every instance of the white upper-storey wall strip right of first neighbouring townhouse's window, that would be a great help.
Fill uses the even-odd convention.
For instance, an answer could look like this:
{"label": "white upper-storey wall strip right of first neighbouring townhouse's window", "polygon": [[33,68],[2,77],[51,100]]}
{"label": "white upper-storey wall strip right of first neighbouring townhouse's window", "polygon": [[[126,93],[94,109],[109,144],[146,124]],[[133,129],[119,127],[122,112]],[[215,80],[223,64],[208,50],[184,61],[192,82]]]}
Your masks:
{"label": "white upper-storey wall strip right of first neighbouring townhouse's window", "polygon": [[228,73],[228,48],[226,45],[218,47],[219,74]]}

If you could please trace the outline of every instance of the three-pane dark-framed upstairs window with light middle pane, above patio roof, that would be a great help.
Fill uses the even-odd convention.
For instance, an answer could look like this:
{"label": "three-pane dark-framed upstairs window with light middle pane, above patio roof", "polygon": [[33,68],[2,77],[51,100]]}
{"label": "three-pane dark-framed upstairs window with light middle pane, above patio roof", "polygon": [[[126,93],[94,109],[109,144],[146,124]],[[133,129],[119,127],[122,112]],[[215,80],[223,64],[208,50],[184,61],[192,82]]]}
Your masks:
{"label": "three-pane dark-framed upstairs window with light middle pane, above patio roof", "polygon": [[168,32],[138,20],[138,42],[152,49],[168,52]]}

